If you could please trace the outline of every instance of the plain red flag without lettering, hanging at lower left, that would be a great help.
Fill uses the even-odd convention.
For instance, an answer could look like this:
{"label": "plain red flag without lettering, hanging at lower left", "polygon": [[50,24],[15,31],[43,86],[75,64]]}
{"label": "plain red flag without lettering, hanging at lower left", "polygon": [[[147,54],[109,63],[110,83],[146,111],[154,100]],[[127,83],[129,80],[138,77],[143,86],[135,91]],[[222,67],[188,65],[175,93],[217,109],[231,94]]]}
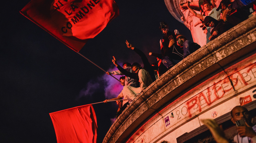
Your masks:
{"label": "plain red flag without lettering, hanging at lower left", "polygon": [[92,105],[50,113],[58,143],[96,143],[97,120]]}

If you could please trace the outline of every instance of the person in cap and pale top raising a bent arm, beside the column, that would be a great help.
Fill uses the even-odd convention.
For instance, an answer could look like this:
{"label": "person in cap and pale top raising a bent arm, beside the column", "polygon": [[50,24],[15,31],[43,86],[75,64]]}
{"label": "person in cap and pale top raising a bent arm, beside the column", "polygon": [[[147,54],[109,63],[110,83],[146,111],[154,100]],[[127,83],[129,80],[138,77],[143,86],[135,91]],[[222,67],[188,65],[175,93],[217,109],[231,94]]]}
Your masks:
{"label": "person in cap and pale top raising a bent arm, beside the column", "polygon": [[[208,1],[204,1],[204,3],[202,3],[203,6],[203,10],[205,13],[205,16],[211,16],[213,18],[215,18],[216,20],[219,20],[221,18],[221,12],[220,10],[216,10],[217,8],[212,8],[212,5],[208,2]],[[200,20],[204,21],[205,16],[196,13],[189,5],[189,1],[187,2],[187,7],[189,9],[189,11],[196,16],[197,18],[199,18]],[[210,31],[211,31],[211,27],[207,27],[207,34],[206,34],[206,43],[209,43],[209,37],[211,36]]]}

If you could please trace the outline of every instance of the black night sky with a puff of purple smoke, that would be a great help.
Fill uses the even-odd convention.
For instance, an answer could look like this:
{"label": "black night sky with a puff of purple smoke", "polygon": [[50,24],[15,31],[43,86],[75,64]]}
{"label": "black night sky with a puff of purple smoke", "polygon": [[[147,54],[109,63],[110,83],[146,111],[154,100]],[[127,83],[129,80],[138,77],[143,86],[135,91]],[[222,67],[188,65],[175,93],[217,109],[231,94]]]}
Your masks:
{"label": "black night sky with a puff of purple smoke", "polygon": [[[118,81],[22,16],[19,11],[29,2],[2,2],[1,143],[57,143],[49,113],[104,101],[120,92],[112,87],[119,85]],[[80,51],[107,71],[116,70],[112,56],[120,65],[142,63],[140,57],[126,47],[125,40],[146,55],[160,53],[160,21],[192,40],[189,29],[172,17],[164,0],[116,0],[116,3],[120,16]],[[148,56],[148,59],[156,62],[154,57]],[[100,103],[93,107],[97,116],[97,143],[101,143],[117,106]]]}

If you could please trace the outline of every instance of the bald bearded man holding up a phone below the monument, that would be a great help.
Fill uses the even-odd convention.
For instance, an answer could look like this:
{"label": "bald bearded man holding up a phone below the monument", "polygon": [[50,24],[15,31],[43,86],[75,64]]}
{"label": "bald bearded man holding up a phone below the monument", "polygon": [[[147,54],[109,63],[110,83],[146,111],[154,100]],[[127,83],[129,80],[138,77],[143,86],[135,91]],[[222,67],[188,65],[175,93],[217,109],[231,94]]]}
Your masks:
{"label": "bald bearded man holding up a phone below the monument", "polygon": [[231,110],[231,121],[237,125],[235,143],[256,143],[256,125],[252,125],[248,110],[242,106],[236,106]]}

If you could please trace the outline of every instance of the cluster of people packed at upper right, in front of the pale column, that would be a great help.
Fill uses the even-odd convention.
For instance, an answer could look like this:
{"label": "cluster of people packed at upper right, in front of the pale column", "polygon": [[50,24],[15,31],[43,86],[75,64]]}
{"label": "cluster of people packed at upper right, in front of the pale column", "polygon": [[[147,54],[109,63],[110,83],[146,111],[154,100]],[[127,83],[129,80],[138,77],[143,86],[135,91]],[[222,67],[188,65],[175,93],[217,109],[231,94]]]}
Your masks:
{"label": "cluster of people packed at upper right, in front of the pale column", "polygon": [[[196,13],[190,6],[190,2],[180,5],[181,10],[189,11],[202,21],[202,29],[206,31],[206,43],[212,41],[222,33],[246,20],[249,16],[255,15],[256,2],[248,5],[240,0],[199,0],[192,2],[194,9],[199,8]],[[252,14],[253,13],[253,14]]]}

